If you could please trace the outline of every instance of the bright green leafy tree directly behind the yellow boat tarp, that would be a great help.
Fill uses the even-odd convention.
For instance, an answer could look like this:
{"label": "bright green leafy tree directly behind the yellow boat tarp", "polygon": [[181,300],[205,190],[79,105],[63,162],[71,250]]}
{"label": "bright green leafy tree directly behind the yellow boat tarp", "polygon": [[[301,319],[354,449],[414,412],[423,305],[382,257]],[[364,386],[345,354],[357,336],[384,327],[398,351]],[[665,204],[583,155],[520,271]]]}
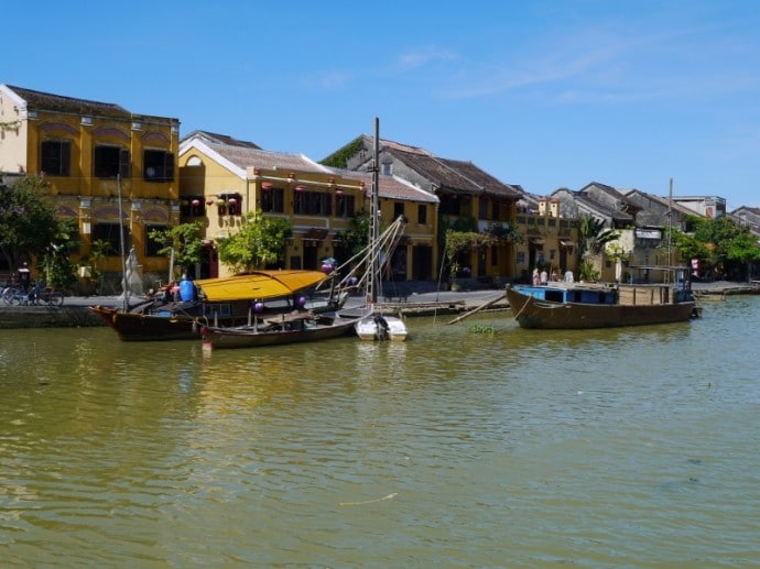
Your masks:
{"label": "bright green leafy tree directly behind the yellow boat tarp", "polygon": [[263,269],[283,260],[285,240],[292,234],[289,220],[251,211],[238,231],[219,242],[219,259],[235,272]]}

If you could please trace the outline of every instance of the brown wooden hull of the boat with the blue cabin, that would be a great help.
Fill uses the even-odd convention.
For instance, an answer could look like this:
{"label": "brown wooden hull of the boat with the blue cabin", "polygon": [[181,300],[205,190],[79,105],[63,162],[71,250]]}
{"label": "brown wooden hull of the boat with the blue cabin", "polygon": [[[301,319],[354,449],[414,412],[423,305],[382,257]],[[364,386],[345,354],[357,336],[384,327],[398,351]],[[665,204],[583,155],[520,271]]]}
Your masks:
{"label": "brown wooden hull of the boat with the blue cabin", "polygon": [[696,315],[695,302],[653,305],[555,303],[508,288],[507,299],[522,328],[589,329],[686,321]]}

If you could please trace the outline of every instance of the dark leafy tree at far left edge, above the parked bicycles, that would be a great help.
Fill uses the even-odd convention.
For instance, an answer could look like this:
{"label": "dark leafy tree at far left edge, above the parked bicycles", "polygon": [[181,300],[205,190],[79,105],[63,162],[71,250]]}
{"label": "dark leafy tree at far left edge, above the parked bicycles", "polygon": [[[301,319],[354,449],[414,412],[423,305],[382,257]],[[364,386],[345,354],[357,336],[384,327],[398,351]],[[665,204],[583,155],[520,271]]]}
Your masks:
{"label": "dark leafy tree at far left edge, above the parked bicycles", "polygon": [[48,189],[47,180],[34,176],[0,185],[0,252],[11,271],[23,260],[43,260],[52,245],[62,245],[70,234],[46,198]]}

